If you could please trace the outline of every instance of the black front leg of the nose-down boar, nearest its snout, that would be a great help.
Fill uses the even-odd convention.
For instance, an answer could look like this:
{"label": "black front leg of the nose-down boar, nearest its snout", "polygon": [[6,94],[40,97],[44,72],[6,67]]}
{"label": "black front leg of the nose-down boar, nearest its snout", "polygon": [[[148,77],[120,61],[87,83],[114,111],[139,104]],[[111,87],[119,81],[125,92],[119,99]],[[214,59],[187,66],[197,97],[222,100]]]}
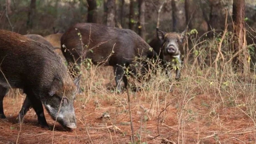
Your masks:
{"label": "black front leg of the nose-down boar, nearest its snout", "polygon": [[32,107],[36,112],[39,125],[42,127],[49,127],[44,116],[44,109],[41,100],[37,99],[30,90],[24,89],[24,93],[27,94],[27,97],[31,101]]}

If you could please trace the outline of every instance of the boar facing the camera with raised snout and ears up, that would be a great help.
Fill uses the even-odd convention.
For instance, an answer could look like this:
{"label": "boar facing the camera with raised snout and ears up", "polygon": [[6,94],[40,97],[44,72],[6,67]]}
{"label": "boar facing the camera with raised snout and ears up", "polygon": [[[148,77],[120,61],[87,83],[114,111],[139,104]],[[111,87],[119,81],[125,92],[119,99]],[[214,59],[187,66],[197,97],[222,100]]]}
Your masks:
{"label": "boar facing the camera with raised snout and ears up", "polygon": [[[171,77],[171,69],[176,65],[176,80],[180,78],[180,68],[182,64],[183,52],[183,39],[186,30],[181,34],[176,32],[163,32],[157,28],[157,38],[154,38],[149,45],[159,55],[159,59],[162,61],[166,74]],[[172,66],[167,68],[168,63]]]}

